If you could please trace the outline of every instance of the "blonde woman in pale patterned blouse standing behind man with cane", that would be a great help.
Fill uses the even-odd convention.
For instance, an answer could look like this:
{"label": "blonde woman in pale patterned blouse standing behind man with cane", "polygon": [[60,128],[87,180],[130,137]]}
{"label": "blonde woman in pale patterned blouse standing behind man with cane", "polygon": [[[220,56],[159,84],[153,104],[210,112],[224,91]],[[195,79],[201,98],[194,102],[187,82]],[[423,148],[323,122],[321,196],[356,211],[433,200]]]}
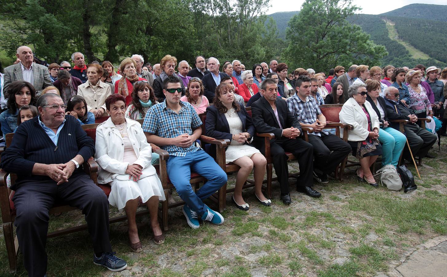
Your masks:
{"label": "blonde woman in pale patterned blouse standing behind man with cane", "polygon": [[426,118],[427,114],[433,117],[431,103],[428,100],[426,90],[422,85],[419,85],[421,77],[421,72],[413,69],[405,74],[405,80],[409,83],[408,92],[411,99],[409,110],[416,114],[418,118]]}

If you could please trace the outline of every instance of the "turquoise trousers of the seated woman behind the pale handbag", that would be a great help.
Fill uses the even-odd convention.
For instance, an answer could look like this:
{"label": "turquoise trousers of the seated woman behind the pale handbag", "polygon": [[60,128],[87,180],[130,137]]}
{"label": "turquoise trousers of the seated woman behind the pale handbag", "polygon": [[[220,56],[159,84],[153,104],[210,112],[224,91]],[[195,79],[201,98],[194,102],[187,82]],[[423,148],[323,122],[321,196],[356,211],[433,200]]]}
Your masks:
{"label": "turquoise trousers of the seated woman behind the pale handbag", "polygon": [[379,141],[382,143],[382,166],[397,166],[405,146],[405,135],[391,127],[380,128]]}

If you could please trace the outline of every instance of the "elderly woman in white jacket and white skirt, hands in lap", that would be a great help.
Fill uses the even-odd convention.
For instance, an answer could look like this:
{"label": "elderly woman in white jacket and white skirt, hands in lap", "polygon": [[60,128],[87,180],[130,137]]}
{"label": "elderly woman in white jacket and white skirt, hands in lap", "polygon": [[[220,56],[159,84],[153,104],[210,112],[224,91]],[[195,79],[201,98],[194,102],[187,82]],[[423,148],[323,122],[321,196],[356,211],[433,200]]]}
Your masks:
{"label": "elderly woman in white jacket and white skirt, hands in lap", "polygon": [[163,187],[151,165],[152,148],[140,124],[125,118],[126,104],[121,94],[105,100],[110,118],[96,130],[95,160],[100,166],[98,183],[110,183],[110,205],[126,211],[131,250],[143,250],[135,214],[139,199],[146,203],[151,217],[154,242],[164,242],[158,223],[158,201],[165,200]]}

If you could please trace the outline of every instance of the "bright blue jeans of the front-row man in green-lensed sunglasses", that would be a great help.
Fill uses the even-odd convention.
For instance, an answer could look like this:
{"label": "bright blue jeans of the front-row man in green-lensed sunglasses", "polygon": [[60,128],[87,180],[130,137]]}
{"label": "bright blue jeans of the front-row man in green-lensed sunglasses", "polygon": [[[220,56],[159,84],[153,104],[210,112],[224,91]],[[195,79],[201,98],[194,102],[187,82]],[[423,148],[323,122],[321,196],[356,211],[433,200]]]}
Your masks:
{"label": "bright blue jeans of the front-row man in green-lensed sunglasses", "polygon": [[[199,216],[207,211],[202,200],[207,199],[227,183],[225,171],[202,149],[188,152],[186,157],[169,156],[166,170],[180,198]],[[191,170],[208,180],[197,193],[190,184]]]}

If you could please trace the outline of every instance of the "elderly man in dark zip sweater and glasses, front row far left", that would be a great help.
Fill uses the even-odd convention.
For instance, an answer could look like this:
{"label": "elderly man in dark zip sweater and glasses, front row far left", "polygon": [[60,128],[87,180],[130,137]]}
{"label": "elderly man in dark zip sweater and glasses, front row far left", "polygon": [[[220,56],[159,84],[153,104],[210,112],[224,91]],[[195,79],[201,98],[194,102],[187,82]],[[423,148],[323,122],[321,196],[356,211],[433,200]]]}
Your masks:
{"label": "elderly man in dark zip sweater and glasses, front row far left", "polygon": [[109,241],[109,202],[80,165],[95,153],[93,139],[71,115],[62,99],[44,94],[39,115],[20,125],[2,154],[0,167],[17,174],[11,187],[17,216],[17,238],[29,276],[45,276],[49,210],[56,201],[82,210],[93,241],[93,262],[112,271],[126,268],[112,254]]}

